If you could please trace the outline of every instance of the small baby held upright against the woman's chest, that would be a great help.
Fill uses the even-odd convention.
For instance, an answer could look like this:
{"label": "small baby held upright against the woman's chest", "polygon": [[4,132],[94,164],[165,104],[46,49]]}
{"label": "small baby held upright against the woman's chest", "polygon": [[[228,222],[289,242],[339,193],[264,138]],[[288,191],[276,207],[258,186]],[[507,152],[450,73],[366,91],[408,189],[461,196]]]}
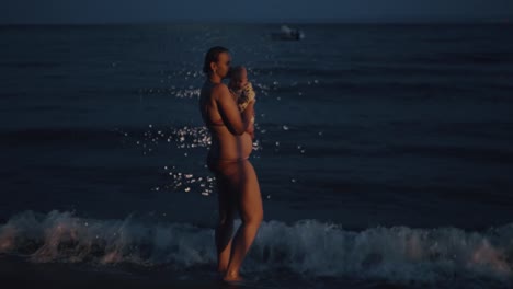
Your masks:
{"label": "small baby held upright against the woman's chest", "polygon": [[[237,105],[239,106],[239,111],[241,113],[246,109],[251,101],[256,101],[256,94],[254,93],[253,85],[251,85],[251,82],[248,81],[248,71],[242,66],[235,67],[231,70],[228,88],[231,92],[231,95],[237,101]],[[251,138],[254,139],[254,112],[246,132],[248,132]]]}

